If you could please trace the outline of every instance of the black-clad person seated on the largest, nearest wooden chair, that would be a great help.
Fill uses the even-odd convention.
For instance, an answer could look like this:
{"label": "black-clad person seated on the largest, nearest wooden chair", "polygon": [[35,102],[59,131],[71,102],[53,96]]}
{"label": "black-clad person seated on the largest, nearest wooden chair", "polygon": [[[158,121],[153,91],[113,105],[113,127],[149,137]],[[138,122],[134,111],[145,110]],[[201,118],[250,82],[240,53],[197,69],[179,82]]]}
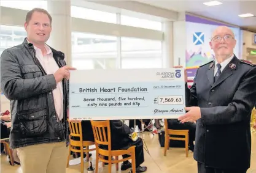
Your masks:
{"label": "black-clad person seated on the largest, nearest wooden chair", "polygon": [[[129,134],[133,133],[130,127],[128,127],[121,120],[110,120],[111,126],[111,146],[112,150],[126,150],[132,145],[135,145],[135,160],[136,160],[136,172],[145,172],[147,167],[141,166],[144,162],[144,152],[143,152],[143,141],[138,138],[137,141],[133,141],[129,138]],[[106,146],[101,146],[107,150]],[[128,158],[129,155],[123,155],[123,158]],[[105,157],[107,160],[107,157]],[[131,168],[131,163],[129,161],[123,161],[121,170]],[[136,173],[134,172],[134,173]]]}

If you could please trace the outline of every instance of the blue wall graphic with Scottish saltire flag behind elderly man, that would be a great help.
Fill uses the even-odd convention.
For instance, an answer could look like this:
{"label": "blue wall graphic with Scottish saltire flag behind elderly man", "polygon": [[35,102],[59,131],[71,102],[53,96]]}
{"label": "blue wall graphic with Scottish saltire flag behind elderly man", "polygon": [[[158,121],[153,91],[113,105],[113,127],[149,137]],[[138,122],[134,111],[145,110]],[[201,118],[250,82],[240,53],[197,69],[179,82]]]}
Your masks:
{"label": "blue wall graphic with Scottish saltire flag behind elderly man", "polygon": [[[186,66],[194,67],[206,64],[214,59],[214,52],[211,50],[209,42],[212,31],[217,26],[223,25],[203,18],[186,15],[187,30],[187,48],[186,48]],[[226,25],[228,26],[228,25]],[[236,37],[235,54],[239,57],[241,48],[241,31],[239,28],[232,29]]]}

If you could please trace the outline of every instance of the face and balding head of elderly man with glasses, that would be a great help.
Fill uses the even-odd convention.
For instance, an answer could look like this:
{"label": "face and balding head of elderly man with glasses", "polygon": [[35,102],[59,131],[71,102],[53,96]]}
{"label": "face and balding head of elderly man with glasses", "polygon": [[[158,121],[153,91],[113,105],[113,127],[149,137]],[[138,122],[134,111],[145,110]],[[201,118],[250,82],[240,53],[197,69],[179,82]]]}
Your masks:
{"label": "face and balding head of elderly man with glasses", "polygon": [[231,56],[236,46],[235,35],[226,26],[220,26],[212,33],[210,46],[216,56]]}

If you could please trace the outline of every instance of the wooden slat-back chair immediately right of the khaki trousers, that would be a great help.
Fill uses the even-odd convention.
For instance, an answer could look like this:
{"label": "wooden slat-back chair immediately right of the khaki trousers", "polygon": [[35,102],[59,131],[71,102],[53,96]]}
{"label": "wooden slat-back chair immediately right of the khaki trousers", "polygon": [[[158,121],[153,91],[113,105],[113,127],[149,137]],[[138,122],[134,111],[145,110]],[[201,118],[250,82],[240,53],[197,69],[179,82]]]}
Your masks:
{"label": "wooden slat-back chair immediately right of the khaki trousers", "polygon": [[[89,149],[90,145],[95,145],[95,142],[92,141],[83,141],[83,134],[82,134],[82,124],[81,122],[69,122],[69,129],[70,129],[70,145],[69,145],[69,155],[68,155],[68,162],[67,167],[69,167],[69,157],[70,152],[80,152],[81,155],[81,172],[83,173],[83,153],[87,153],[87,161],[89,160],[89,152],[94,151],[94,149]],[[71,139],[71,137],[76,138],[79,137],[79,141],[75,141],[74,139]],[[79,147],[80,149],[76,149],[76,147]],[[85,149],[83,149],[86,147]]]}

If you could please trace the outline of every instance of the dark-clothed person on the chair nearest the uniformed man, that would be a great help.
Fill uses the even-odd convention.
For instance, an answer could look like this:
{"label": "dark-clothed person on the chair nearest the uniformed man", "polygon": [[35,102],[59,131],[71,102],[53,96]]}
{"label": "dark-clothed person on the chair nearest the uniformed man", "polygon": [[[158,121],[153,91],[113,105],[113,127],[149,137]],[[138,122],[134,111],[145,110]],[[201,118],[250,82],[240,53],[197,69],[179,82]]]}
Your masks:
{"label": "dark-clothed person on the chair nearest the uniformed man", "polygon": [[186,122],[180,123],[178,119],[168,119],[168,129],[172,130],[189,130],[188,132],[188,149],[194,151],[194,143],[196,136],[196,123]]}

